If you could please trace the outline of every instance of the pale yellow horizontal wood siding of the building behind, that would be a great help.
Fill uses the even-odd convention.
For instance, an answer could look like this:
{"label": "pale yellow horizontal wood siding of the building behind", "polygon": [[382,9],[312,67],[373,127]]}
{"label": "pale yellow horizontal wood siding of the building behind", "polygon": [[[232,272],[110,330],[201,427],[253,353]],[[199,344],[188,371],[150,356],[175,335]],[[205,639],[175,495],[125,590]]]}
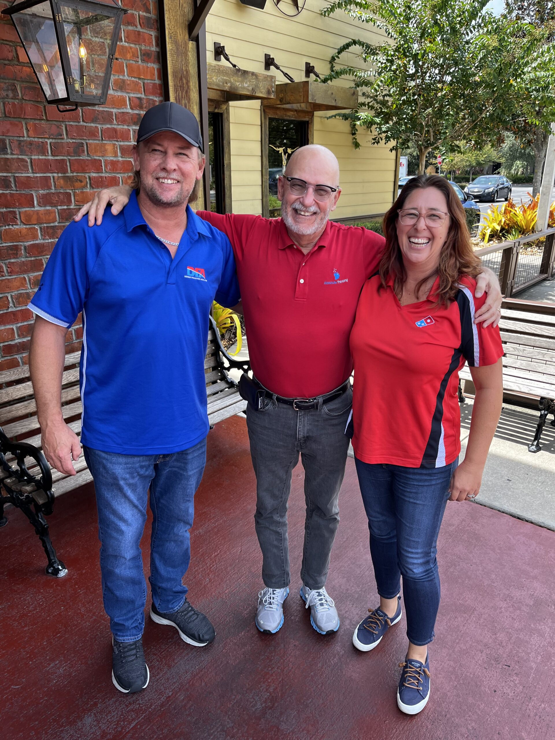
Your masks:
{"label": "pale yellow horizontal wood siding of the building behind", "polygon": [[[289,0],[283,3],[288,12],[293,8]],[[374,43],[385,40],[379,32],[351,21],[343,13],[324,18],[320,9],[325,6],[322,0],[306,0],[304,10],[289,18],[280,13],[272,0],[266,1],[264,10],[242,5],[239,0],[216,0],[206,19],[208,61],[214,61],[214,41],[219,41],[244,70],[263,73],[264,54],[268,53],[296,81],[303,81],[306,61],[325,75],[329,72],[330,56],[349,38]],[[351,53],[343,55],[342,61],[357,64]],[[275,74],[278,83],[286,82],[277,70],[266,74]],[[349,86],[348,82],[334,84]],[[229,110],[233,210],[261,213],[260,103],[230,103]],[[394,152],[389,152],[388,146],[373,146],[366,131],[360,132],[360,149],[354,149],[349,124],[330,119],[329,115],[314,113],[314,144],[329,147],[339,159],[343,192],[334,218],[383,213],[391,205],[397,180]]]}

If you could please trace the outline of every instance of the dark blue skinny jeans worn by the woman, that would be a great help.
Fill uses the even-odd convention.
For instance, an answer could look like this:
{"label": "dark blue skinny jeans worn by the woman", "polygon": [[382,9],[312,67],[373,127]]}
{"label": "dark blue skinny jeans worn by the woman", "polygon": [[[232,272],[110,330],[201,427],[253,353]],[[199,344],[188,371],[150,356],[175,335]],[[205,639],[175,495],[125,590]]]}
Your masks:
{"label": "dark blue skinny jeans worn by the woman", "polygon": [[442,468],[355,463],[377,592],[393,599],[403,576],[407,637],[413,645],[428,645],[440,606],[437,536],[458,460]]}

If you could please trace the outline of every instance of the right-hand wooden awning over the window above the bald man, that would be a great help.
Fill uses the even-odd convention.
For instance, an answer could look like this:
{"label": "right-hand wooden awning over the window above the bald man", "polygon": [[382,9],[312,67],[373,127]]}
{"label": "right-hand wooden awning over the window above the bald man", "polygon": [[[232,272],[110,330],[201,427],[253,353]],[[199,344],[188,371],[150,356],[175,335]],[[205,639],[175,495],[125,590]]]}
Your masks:
{"label": "right-hand wooden awning over the window above the bald man", "polygon": [[357,107],[358,92],[312,80],[286,82],[276,85],[275,97],[263,100],[263,104],[296,110],[351,110]]}

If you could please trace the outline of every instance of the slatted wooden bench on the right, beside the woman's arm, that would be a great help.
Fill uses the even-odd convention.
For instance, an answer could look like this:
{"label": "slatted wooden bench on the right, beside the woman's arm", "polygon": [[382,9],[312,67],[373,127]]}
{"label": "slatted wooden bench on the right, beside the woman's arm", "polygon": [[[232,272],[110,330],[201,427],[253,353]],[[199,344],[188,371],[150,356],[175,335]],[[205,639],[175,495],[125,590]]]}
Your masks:
{"label": "slatted wooden bench on the right, beside the woman's arm", "polygon": [[[539,420],[528,451],[539,452],[539,439],[548,414],[555,426],[555,303],[506,298],[499,321],[503,357],[503,396],[508,403],[539,404]],[[465,385],[471,381],[468,366],[460,371]]]}

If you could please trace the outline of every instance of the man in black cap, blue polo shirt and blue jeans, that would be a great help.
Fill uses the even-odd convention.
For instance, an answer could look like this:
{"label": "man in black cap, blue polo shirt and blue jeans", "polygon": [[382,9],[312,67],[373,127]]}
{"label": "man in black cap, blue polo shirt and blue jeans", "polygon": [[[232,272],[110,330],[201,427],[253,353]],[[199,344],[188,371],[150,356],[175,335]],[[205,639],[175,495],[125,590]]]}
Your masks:
{"label": "man in black cap, blue polo shirt and blue jeans", "polygon": [[[152,509],[155,622],[201,647],[215,637],[186,599],[193,497],[206,460],[204,356],[209,310],[239,300],[228,238],[187,206],[204,168],[194,115],[175,103],[144,114],[133,153],[138,191],[98,229],[70,223],[30,303],[30,351],[42,445],[75,474],[79,440],[61,414],[67,327],[83,314],[81,442],[95,482],[112,681],[147,686],[142,633],[147,588],[140,541]],[[193,195],[194,197],[194,195]]]}

